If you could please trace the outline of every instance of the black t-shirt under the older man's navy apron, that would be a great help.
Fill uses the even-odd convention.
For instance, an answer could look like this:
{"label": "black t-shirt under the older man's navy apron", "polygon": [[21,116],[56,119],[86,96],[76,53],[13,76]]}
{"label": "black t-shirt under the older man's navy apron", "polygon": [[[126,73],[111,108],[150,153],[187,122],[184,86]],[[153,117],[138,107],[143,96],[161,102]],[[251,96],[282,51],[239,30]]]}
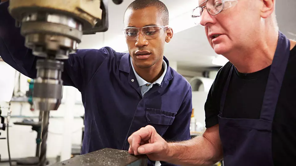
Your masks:
{"label": "black t-shirt under the older man's navy apron", "polygon": [[[205,103],[206,127],[218,124],[220,99],[232,64],[222,67]],[[259,119],[270,66],[244,74],[233,68],[223,117]],[[296,160],[296,46],[290,51],[286,73],[273,118],[272,155],[275,166],[295,164]]]}

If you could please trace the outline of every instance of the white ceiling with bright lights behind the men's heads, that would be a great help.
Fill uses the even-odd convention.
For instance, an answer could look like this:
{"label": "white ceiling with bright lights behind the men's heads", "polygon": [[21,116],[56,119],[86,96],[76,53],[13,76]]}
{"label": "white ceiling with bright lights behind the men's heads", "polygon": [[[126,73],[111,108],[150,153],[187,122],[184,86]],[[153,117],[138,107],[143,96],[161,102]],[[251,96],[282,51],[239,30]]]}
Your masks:
{"label": "white ceiling with bright lights behind the men's heads", "polygon": [[[123,13],[133,0],[124,0],[115,5],[109,0],[109,30],[95,35],[84,35],[79,48],[101,48],[110,46],[118,52],[127,52],[123,28]],[[174,29],[174,37],[166,45],[165,56],[178,62],[178,68],[201,70],[218,67],[212,60],[218,55],[208,44],[204,28],[196,26],[190,19],[191,10],[197,6],[198,0],[162,0],[170,12],[170,26]],[[186,2],[186,3],[184,3]],[[290,39],[296,39],[296,1],[276,1],[276,15],[280,31]],[[116,11],[116,12],[114,12]],[[180,26],[181,25],[181,26]]]}

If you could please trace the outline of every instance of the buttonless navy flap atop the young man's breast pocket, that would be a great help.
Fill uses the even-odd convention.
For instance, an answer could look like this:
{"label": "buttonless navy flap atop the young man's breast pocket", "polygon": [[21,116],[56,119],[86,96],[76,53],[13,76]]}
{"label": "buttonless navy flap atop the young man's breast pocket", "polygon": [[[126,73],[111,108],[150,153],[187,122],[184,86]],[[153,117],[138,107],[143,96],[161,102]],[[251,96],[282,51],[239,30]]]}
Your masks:
{"label": "buttonless navy flap atop the young man's breast pocket", "polygon": [[171,125],[177,113],[146,108],[146,120],[148,123],[157,125]]}

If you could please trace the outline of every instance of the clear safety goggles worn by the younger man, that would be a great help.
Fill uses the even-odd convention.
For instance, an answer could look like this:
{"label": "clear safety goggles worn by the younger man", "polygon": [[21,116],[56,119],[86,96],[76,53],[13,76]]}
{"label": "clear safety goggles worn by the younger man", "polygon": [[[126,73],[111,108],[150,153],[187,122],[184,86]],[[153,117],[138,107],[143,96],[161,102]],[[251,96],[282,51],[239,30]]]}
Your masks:
{"label": "clear safety goggles worn by the younger man", "polygon": [[125,35],[125,38],[130,40],[137,40],[139,33],[142,33],[142,35],[147,40],[150,40],[163,35],[167,28],[168,28],[168,25],[166,26],[149,25],[142,28],[126,27],[122,29],[122,32]]}

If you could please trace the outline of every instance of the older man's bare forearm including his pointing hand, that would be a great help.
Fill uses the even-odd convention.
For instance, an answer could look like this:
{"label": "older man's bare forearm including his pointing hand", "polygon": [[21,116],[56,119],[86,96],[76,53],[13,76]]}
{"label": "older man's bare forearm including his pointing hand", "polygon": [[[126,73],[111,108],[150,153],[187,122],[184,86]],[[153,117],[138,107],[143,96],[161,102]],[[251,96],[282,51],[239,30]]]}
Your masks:
{"label": "older man's bare forearm including his pointing hand", "polygon": [[133,133],[128,141],[131,154],[146,154],[150,160],[177,165],[208,166],[220,161],[223,156],[219,125],[206,129],[203,136],[175,143],[167,143],[148,125]]}

